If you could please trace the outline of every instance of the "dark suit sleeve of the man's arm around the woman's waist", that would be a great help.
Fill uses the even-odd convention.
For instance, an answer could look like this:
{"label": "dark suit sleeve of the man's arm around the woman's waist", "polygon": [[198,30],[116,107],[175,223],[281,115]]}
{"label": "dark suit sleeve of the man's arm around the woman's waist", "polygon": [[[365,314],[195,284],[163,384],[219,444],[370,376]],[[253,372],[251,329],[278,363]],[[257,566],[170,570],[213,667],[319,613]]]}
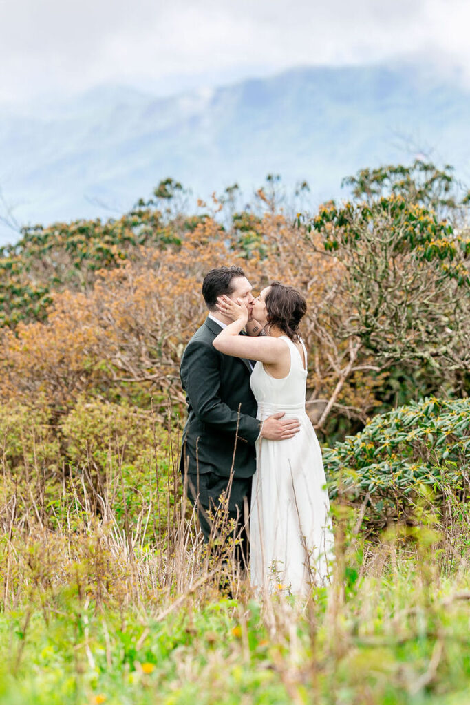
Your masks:
{"label": "dark suit sleeve of the man's arm around the woman's waist", "polygon": [[233,411],[218,396],[221,386],[218,353],[212,345],[190,343],[181,362],[181,381],[197,418],[204,424],[235,434],[249,443],[259,436],[261,424],[252,416]]}

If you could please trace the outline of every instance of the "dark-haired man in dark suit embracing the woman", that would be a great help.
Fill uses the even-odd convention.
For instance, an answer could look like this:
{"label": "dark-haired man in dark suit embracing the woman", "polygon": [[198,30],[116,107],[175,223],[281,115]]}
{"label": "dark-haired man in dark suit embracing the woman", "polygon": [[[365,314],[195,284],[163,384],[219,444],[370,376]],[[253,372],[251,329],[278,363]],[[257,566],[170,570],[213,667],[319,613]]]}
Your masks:
{"label": "dark-haired man in dark suit embracing the woman", "polygon": [[284,414],[278,413],[261,424],[249,386],[254,363],[219,353],[212,345],[221,329],[232,322],[216,307],[223,294],[242,300],[251,309],[252,286],[240,267],[221,266],[204,277],[202,295],[209,315],[187,344],[180,368],[188,412],[180,470],[205,541],[211,537],[209,514],[215,514],[219,496],[224,491],[228,495],[228,519],[234,520],[235,536],[241,539],[237,560],[246,566],[247,508],[256,471],[254,443],[259,436],[271,441],[292,438],[299,422],[283,420]]}

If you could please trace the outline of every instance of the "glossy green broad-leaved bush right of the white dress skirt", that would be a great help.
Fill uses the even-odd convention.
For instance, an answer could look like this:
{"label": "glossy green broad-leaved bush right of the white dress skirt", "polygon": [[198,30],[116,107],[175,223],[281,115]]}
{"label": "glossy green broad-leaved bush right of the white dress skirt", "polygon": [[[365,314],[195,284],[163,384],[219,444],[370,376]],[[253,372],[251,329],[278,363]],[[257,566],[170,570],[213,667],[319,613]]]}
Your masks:
{"label": "glossy green broad-leaved bush right of the white dress skirt", "polygon": [[330,493],[364,503],[369,527],[412,518],[420,498],[443,509],[445,486],[466,501],[470,398],[434,397],[377,415],[364,431],[325,451]]}

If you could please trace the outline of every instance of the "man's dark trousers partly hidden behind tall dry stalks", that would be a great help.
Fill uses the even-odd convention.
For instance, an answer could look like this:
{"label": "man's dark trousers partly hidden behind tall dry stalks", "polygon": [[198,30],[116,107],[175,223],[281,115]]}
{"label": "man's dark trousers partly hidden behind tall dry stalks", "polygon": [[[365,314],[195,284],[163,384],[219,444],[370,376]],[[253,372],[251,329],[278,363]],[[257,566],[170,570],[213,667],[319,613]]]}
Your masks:
{"label": "man's dark trousers partly hidden behind tall dry stalks", "polygon": [[[215,546],[218,539],[226,541],[230,537],[238,539],[235,545],[235,560],[241,570],[246,570],[249,560],[248,514],[252,496],[251,477],[220,477],[214,472],[188,473],[186,476],[187,496],[197,510],[204,541]],[[220,496],[228,498],[226,511],[223,511]],[[211,516],[214,520],[211,520]],[[234,532],[227,527],[233,520]],[[222,526],[219,526],[219,524]]]}

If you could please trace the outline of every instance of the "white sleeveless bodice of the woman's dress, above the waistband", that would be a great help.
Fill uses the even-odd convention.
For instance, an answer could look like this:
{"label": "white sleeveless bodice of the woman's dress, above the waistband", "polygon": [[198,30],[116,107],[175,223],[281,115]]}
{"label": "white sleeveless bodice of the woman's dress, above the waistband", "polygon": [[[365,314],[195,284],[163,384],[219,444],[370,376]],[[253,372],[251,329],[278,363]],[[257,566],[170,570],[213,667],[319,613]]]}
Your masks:
{"label": "white sleeveless bodice of the woman's dress, above the waistband", "polygon": [[[258,417],[266,417],[276,411],[285,411],[286,415],[298,415],[305,412],[305,388],[307,384],[307,370],[304,369],[302,357],[295,343],[287,336],[280,336],[290,349],[290,369],[287,376],[276,379],[271,376],[262,362],[256,362],[250,385],[258,403]],[[304,343],[304,357],[307,361],[307,352]]]}

